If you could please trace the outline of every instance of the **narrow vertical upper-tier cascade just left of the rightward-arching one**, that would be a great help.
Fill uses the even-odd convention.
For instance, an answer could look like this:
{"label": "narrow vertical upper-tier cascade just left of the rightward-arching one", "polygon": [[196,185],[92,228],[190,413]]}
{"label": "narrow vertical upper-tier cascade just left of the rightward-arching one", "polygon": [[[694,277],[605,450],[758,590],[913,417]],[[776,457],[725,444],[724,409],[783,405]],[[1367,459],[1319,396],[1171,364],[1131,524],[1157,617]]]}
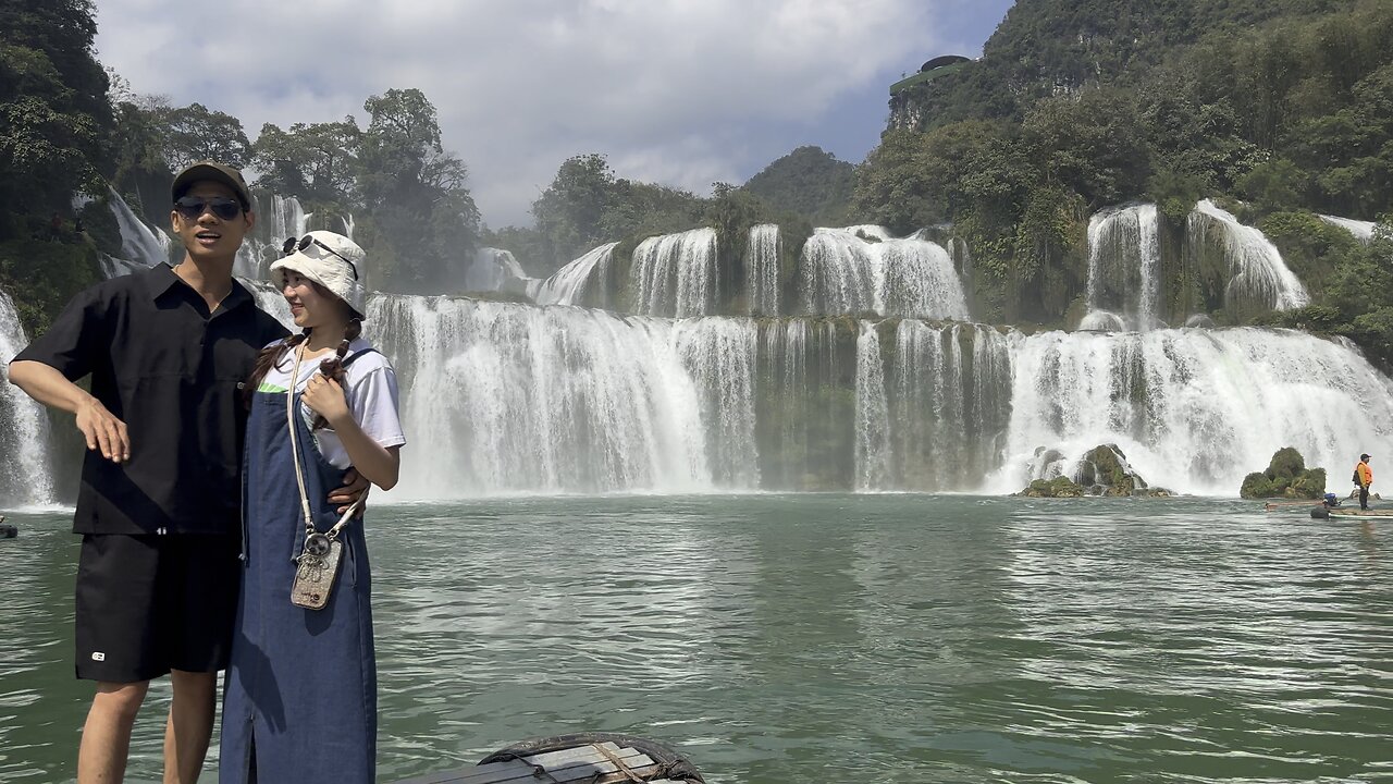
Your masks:
{"label": "narrow vertical upper-tier cascade just left of the rightward-arching one", "polygon": [[1088,315],[1080,329],[1159,324],[1160,233],[1156,205],[1105,209],[1088,220]]}

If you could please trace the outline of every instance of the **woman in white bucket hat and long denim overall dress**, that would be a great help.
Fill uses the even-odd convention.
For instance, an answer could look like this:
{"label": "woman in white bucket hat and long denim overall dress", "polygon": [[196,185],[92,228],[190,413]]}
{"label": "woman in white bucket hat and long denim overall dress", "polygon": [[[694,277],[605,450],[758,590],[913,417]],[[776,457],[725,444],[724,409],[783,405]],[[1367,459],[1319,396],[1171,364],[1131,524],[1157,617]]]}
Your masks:
{"label": "woman in white bucket hat and long denim overall dress", "polygon": [[327,540],[316,536],[340,522],[325,498],[347,466],[384,490],[397,483],[396,375],[359,336],[362,248],[311,232],[286,252],[270,275],[301,332],[266,346],[247,382],[244,573],[217,780],[372,781],[378,684],[362,519],[351,511],[327,537],[341,543],[340,564],[337,576],[313,573],[329,586],[322,608],[293,604],[291,585],[302,565],[323,565],[315,557]]}

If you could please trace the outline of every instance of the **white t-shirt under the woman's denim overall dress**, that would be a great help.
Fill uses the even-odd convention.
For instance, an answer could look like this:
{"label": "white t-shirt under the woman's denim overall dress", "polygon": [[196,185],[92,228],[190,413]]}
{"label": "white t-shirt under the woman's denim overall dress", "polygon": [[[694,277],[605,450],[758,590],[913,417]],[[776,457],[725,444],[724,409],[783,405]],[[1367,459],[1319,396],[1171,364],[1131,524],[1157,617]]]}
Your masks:
{"label": "white t-shirt under the woman's denim overall dress", "polygon": [[[365,338],[358,338],[348,343],[348,354],[344,360],[371,347],[372,343]],[[295,381],[297,392],[305,389],[305,384],[309,384],[309,379],[319,372],[319,363],[330,356],[333,353],[305,359],[299,364],[299,378]],[[266,372],[266,378],[262,379],[256,391],[284,395],[294,368],[294,352],[286,352],[280,361]],[[387,357],[382,356],[380,352],[358,357],[348,365],[347,374],[348,410],[352,412],[352,419],[358,421],[368,438],[383,446],[405,444],[407,437],[401,432],[401,417],[397,413],[397,374],[393,372]],[[299,413],[305,417],[306,424],[313,423],[315,412],[309,406],[301,403]],[[327,427],[313,432],[315,446],[332,466],[347,469],[352,465],[352,460],[348,459],[348,451],[338,441],[338,434]]]}

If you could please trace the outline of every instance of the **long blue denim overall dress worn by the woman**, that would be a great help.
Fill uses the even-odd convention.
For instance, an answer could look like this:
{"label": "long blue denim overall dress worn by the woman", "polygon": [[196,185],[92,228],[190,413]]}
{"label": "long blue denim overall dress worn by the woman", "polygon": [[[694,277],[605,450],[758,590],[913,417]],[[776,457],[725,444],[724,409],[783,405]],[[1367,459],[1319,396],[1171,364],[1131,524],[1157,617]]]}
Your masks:
{"label": "long blue denim overall dress worn by the woman", "polygon": [[[295,409],[302,410],[298,392]],[[329,604],[291,604],[293,558],[305,523],[286,420],[284,392],[254,395],[242,458],[242,585],[223,691],[217,780],[371,783],[378,668],[362,519],[338,534],[344,550]],[[319,453],[305,417],[294,420],[315,527],[327,532],[338,520],[327,495],[343,484],[344,470]]]}

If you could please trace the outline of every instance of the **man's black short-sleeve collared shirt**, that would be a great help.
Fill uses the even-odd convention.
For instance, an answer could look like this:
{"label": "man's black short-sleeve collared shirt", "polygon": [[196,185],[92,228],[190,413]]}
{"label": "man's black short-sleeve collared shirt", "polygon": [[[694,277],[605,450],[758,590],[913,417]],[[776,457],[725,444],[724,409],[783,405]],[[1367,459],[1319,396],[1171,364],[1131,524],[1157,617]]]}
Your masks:
{"label": "man's black short-sleeve collared shirt", "polygon": [[235,533],[241,523],[241,385],[279,321],[233,282],[217,310],[174,271],[99,283],[63,310],[15,361],[92,377],[92,395],[125,423],[131,459],[88,452],[75,533]]}

